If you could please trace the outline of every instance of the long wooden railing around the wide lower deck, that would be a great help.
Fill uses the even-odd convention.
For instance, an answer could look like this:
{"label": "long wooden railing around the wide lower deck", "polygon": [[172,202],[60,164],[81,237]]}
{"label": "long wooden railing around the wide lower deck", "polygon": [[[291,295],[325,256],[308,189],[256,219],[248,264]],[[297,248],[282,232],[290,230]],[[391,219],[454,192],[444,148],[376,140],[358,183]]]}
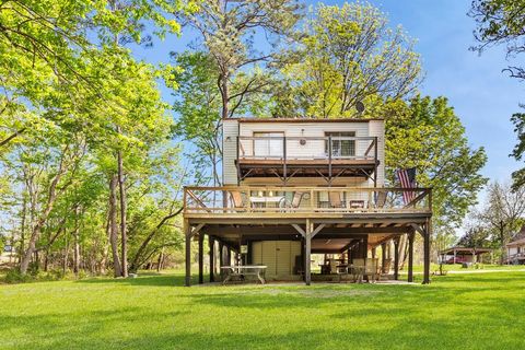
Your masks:
{"label": "long wooden railing around the wide lower deck", "polygon": [[[404,196],[405,194],[405,196]],[[431,188],[185,187],[185,213],[431,212]]]}

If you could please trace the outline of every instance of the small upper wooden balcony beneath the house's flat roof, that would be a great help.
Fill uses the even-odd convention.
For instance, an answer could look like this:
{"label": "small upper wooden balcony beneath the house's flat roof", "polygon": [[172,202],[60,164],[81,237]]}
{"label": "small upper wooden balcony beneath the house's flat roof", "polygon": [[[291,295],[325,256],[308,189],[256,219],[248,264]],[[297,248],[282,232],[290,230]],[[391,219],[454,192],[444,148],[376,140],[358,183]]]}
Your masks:
{"label": "small upper wooden balcony beneath the house's flat roof", "polygon": [[325,137],[285,137],[283,132],[254,132],[236,139],[235,165],[238,180],[278,176],[364,177],[376,182],[377,137],[327,132]]}

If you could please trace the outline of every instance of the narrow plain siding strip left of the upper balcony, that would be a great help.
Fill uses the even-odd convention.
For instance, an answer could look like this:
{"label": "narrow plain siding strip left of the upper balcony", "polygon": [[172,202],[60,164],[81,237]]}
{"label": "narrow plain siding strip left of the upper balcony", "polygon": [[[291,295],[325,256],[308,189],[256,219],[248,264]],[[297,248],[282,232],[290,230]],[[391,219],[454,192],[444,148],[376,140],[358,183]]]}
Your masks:
{"label": "narrow plain siding strip left of the upper balcony", "polygon": [[237,159],[238,120],[224,120],[222,122],[222,180],[224,185],[237,185],[235,160]]}

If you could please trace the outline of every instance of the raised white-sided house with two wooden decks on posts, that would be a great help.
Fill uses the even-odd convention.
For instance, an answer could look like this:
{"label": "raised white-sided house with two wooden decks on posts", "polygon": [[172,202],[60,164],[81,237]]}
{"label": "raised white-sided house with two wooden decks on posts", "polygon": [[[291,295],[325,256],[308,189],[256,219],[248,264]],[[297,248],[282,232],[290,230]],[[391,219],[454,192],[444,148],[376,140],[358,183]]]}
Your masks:
{"label": "raised white-sided house with two wooden decks on posts", "polygon": [[224,120],[224,187],[185,188],[186,284],[194,238],[203,281],[205,235],[220,246],[220,266],[234,252],[238,264],[267,266],[269,279],[310,284],[312,254],[340,254],[351,264],[382,247],[385,267],[387,244],[408,234],[411,280],[416,233],[424,241],[428,283],[431,189],[385,188],[384,145],[382,119]]}

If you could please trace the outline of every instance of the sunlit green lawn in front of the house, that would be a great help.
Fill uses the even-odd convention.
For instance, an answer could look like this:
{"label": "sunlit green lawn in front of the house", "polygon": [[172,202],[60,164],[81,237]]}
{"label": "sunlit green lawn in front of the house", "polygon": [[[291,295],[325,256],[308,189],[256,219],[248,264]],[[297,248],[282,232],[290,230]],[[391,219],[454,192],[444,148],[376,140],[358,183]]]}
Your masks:
{"label": "sunlit green lawn in front of the house", "polygon": [[521,271],[431,285],[182,283],[174,273],[0,285],[0,348],[525,348]]}

